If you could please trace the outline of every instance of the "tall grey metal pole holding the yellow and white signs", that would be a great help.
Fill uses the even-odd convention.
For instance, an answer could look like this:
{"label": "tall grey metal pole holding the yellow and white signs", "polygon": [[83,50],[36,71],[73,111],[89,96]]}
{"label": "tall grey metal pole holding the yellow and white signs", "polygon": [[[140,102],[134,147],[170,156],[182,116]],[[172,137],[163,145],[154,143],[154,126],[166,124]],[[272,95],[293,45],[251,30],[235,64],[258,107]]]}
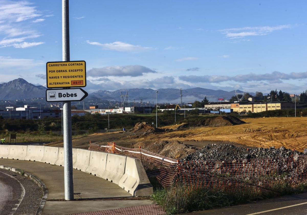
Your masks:
{"label": "tall grey metal pole holding the yellow and white signs", "polygon": [[[62,61],[70,61],[69,0],[62,0]],[[65,200],[74,199],[72,178],[72,115],[71,102],[63,102],[64,190]]]}

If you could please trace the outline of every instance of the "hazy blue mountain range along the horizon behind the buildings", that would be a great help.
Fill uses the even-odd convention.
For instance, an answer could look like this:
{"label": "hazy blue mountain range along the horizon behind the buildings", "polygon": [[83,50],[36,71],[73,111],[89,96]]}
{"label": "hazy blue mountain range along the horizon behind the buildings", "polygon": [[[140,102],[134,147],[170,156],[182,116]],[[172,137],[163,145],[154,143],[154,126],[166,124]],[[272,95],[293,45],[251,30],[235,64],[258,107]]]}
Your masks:
{"label": "hazy blue mountain range along the horizon behind the buildings", "polygon": [[[36,86],[30,84],[22,78],[18,78],[7,83],[0,84],[0,100],[17,100],[17,99],[28,99],[28,98],[38,98],[45,97],[45,91],[47,88],[44,86]],[[121,94],[126,94],[128,92],[128,101],[140,102],[142,99],[143,102],[155,103],[156,91],[158,102],[161,103],[176,103],[180,102],[180,90],[174,88],[161,88],[158,90],[153,90],[150,88],[133,88],[133,89],[120,89],[116,91],[107,91],[107,90],[98,90],[93,93],[89,93],[88,97],[85,100],[110,100],[110,101],[120,101]],[[242,92],[237,90],[237,92]],[[206,96],[209,101],[217,101],[218,98],[230,99],[231,96],[235,94],[235,91],[224,91],[224,90],[212,90],[206,88],[190,88],[182,90],[182,101],[183,102],[193,102],[195,100],[203,100]],[[251,93],[253,95],[254,93]]]}

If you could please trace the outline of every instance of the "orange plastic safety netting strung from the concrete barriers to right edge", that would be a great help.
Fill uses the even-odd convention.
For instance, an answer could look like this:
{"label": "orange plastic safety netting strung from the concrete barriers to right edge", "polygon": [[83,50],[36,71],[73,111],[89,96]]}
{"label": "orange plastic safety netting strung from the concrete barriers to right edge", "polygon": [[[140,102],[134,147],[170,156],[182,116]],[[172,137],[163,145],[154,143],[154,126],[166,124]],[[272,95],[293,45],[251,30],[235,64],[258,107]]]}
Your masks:
{"label": "orange plastic safety netting strung from the concrete barriers to right edge", "polygon": [[266,188],[276,182],[298,185],[307,182],[307,156],[297,155],[274,159],[241,159],[232,161],[197,160],[180,162],[150,151],[107,145],[90,144],[89,150],[104,151],[139,158],[147,175],[164,187],[180,180],[195,187]]}

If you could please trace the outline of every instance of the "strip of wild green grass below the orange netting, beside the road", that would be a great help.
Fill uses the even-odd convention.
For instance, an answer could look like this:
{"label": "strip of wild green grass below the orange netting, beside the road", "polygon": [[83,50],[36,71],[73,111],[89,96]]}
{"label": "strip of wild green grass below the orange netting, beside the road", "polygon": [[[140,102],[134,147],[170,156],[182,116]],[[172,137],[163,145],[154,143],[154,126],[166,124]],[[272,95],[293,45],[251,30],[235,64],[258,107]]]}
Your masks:
{"label": "strip of wild green grass below the orange netting, beside the road", "polygon": [[302,193],[306,188],[306,184],[291,186],[287,181],[276,181],[270,187],[262,189],[242,186],[229,190],[178,183],[168,189],[157,188],[153,193],[152,200],[167,213],[176,214]]}

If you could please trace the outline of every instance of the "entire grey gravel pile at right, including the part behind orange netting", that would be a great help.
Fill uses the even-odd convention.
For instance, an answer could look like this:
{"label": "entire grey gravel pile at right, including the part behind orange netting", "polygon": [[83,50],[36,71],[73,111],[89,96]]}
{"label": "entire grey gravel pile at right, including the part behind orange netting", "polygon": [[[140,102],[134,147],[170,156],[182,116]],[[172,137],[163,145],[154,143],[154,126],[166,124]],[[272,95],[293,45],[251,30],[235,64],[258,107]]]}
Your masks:
{"label": "entire grey gravel pile at right, including the part behind orange netting", "polygon": [[[285,147],[243,148],[212,144],[181,159],[181,169],[185,175],[200,177],[200,180],[206,179],[206,174],[220,174],[230,181],[248,180],[258,186],[270,184],[271,180],[288,180],[297,185],[305,182],[307,177],[307,159],[300,157],[303,154],[307,154],[307,149],[301,153]],[[193,175],[195,170],[206,174]],[[217,184],[225,182],[214,177],[210,180]]]}

